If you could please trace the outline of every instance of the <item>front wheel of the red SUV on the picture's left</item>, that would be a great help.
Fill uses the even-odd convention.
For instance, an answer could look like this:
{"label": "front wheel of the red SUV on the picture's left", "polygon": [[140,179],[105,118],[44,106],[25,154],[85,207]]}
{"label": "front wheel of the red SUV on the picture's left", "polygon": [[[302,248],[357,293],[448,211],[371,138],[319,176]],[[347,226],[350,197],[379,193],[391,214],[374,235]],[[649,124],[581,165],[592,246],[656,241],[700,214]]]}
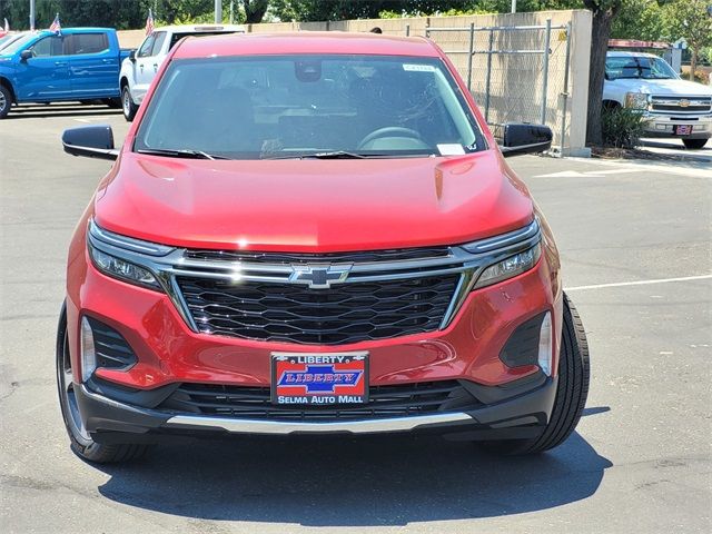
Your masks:
{"label": "front wheel of the red SUV on the picture's left", "polygon": [[69,435],[71,449],[81,458],[98,464],[127,462],[142,456],[148,445],[142,444],[102,444],[91,438],[85,428],[79,414],[77,385],[72,382],[71,362],[69,357],[69,336],[67,335],[67,314],[62,305],[57,329],[57,389],[59,406]]}

